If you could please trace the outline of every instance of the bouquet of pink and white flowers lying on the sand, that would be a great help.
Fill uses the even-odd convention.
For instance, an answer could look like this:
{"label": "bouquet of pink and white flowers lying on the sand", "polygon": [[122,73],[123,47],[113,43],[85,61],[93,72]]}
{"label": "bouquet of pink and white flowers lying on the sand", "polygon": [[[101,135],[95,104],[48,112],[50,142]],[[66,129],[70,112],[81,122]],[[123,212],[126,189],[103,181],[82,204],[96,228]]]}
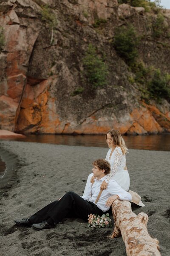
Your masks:
{"label": "bouquet of pink and white flowers lying on the sand", "polygon": [[88,227],[111,227],[111,219],[109,218],[109,214],[106,213],[100,217],[99,215],[89,214],[88,215]]}

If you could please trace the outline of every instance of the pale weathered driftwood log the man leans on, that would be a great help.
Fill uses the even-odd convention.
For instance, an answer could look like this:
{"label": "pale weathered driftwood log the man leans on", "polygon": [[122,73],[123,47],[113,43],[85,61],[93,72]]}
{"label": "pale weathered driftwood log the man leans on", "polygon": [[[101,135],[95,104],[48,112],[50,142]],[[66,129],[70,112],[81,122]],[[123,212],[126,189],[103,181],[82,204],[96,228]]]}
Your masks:
{"label": "pale weathered driftwood log the man leans on", "polygon": [[119,237],[126,246],[127,256],[160,256],[159,241],[147,232],[148,216],[144,212],[137,216],[128,201],[115,200],[112,204],[114,230],[111,238]]}

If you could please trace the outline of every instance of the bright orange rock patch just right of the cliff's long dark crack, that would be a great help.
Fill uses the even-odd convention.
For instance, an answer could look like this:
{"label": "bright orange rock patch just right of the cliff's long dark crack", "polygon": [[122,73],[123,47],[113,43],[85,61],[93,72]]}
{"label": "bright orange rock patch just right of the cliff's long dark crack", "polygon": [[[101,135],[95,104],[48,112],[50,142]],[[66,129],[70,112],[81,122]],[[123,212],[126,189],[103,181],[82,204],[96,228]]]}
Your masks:
{"label": "bright orange rock patch just right of the cliff's long dark crack", "polygon": [[45,80],[34,86],[34,88],[30,84],[26,84],[16,131],[57,133],[60,121],[54,111],[54,99],[49,96],[48,85],[50,83],[51,79]]}

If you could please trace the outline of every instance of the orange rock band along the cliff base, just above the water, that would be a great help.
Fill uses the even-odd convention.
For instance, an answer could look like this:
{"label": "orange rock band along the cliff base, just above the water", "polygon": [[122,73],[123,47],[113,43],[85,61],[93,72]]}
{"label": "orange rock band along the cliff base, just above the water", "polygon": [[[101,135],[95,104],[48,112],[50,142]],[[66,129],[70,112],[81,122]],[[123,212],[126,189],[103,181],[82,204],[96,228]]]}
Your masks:
{"label": "orange rock band along the cliff base, just above the water", "polygon": [[[114,121],[111,123],[108,118],[99,120],[95,116],[91,116],[81,125],[75,122],[61,121],[54,111],[55,100],[50,98],[48,90],[41,93],[34,99],[34,102],[29,98],[23,98],[21,106],[16,131],[26,133],[105,134],[112,128],[118,129],[121,134],[147,134],[148,132],[156,134],[164,131],[164,128],[170,131],[170,119],[164,119],[165,123],[162,119],[161,121],[155,119],[153,115],[155,111],[159,110],[154,107],[154,111],[151,112],[149,109],[152,109],[153,106],[150,105],[146,105],[146,108],[134,109],[129,116],[125,117],[126,122]],[[160,116],[164,116],[164,114],[160,112],[159,118]]]}

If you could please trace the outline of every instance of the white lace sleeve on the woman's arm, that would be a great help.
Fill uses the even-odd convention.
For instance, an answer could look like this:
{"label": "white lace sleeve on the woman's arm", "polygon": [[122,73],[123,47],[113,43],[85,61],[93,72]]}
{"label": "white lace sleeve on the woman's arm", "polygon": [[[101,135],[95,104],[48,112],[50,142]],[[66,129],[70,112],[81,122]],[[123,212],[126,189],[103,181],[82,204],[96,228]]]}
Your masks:
{"label": "white lace sleeve on the woman's arm", "polygon": [[106,176],[106,180],[105,180],[106,182],[109,182],[109,180],[111,180],[111,178],[114,177],[120,163],[122,162],[122,158],[123,158],[122,149],[119,147],[115,148],[113,167],[111,169],[111,172]]}

